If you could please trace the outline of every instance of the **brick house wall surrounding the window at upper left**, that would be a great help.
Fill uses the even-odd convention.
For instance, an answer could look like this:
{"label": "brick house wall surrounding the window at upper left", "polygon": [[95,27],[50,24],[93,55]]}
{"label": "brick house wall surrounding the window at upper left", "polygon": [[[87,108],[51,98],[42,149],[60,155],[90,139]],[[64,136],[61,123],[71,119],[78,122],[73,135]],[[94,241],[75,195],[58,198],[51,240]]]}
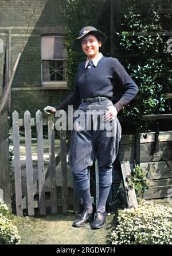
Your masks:
{"label": "brick house wall surrounding the window at upper left", "polygon": [[21,115],[25,110],[35,114],[46,105],[60,103],[68,95],[67,90],[41,90],[41,33],[64,33],[62,3],[62,0],[0,0],[0,39],[4,42],[4,51],[0,53],[0,96],[6,38],[10,31],[12,68],[22,51],[12,85],[12,108]]}

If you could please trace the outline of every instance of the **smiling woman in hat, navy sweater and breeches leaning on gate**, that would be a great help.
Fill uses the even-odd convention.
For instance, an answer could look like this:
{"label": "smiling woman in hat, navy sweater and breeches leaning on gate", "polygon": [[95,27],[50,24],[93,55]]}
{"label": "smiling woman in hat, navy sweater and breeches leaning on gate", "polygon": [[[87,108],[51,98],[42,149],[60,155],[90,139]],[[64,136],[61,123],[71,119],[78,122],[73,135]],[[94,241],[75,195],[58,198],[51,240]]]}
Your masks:
{"label": "smiling woman in hat, navy sweater and breeches leaning on gate", "polygon": [[[80,129],[73,132],[70,150],[70,165],[73,179],[83,199],[84,212],[74,221],[75,227],[83,227],[92,218],[92,201],[89,190],[88,167],[97,159],[99,168],[99,202],[91,223],[92,228],[101,228],[105,223],[105,204],[112,185],[112,164],[118,153],[121,126],[116,117],[123,106],[128,104],[138,93],[138,86],[127,74],[124,67],[115,58],[104,57],[99,48],[107,37],[93,27],[84,27],[77,41],[81,43],[87,60],[80,63],[77,71],[76,86],[71,96],[57,108],[46,107],[44,110],[56,112],[67,110],[69,105],[79,106],[85,114],[89,110],[103,110],[101,122],[110,122],[112,135],[107,129]],[[115,100],[119,93],[120,99]],[[112,103],[116,101],[115,104]],[[93,118],[91,119],[93,123]],[[100,123],[101,123],[100,122]]]}

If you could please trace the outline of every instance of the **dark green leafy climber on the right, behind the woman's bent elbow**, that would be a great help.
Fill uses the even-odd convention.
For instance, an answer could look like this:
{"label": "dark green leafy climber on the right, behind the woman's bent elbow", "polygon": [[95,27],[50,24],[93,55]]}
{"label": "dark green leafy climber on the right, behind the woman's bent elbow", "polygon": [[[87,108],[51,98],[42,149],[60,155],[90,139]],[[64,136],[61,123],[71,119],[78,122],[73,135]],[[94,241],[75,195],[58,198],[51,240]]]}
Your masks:
{"label": "dark green leafy climber on the right, behind the woman's bent elbow", "polygon": [[[133,1],[124,14],[119,48],[123,54],[133,56],[123,61],[124,66],[139,86],[137,101],[128,104],[123,115],[140,117],[145,114],[162,114],[171,111],[170,101],[164,93],[171,92],[172,62],[167,52],[167,37],[159,35],[165,30],[169,14],[162,18],[157,14],[160,1]],[[147,6],[148,14],[135,14],[134,9]],[[140,32],[140,35],[136,33]],[[147,35],[144,33],[146,32]],[[152,33],[154,32],[154,35]]]}

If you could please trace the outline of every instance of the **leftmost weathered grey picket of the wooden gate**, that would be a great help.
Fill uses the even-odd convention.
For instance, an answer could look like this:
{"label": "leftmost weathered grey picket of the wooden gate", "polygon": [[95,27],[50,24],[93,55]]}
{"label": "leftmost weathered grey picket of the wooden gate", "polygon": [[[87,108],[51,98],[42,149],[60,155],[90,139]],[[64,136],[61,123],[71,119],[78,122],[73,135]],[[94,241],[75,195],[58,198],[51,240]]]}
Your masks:
{"label": "leftmost weathered grey picket of the wooden gate", "polygon": [[14,141],[14,180],[15,180],[15,202],[17,216],[23,216],[22,187],[21,187],[21,164],[19,154],[19,125],[18,112],[13,112],[13,141]]}

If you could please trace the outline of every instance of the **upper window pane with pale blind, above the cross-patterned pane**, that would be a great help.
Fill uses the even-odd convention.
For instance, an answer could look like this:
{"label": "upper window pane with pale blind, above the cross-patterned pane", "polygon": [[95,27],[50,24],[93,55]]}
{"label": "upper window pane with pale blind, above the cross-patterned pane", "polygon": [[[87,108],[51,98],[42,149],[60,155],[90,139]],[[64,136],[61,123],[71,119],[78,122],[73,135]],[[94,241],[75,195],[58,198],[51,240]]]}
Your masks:
{"label": "upper window pane with pale blind, above the cross-patterned pane", "polygon": [[41,37],[42,59],[65,59],[63,37]]}

